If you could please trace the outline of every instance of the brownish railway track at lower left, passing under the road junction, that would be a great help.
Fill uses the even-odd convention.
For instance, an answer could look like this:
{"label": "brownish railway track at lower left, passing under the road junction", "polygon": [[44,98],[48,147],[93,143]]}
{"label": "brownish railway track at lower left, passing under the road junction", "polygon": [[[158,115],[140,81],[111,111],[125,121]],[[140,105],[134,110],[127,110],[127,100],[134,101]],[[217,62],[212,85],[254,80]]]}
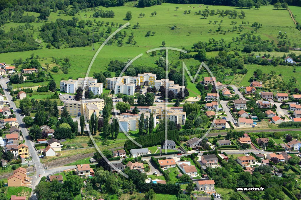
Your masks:
{"label": "brownish railway track at lower left, passing under the road junction", "polygon": [[[109,150],[120,149],[120,148],[123,148],[123,147],[111,148]],[[63,159],[63,160],[58,160],[58,161],[44,163],[42,165],[45,166],[45,167],[48,167],[49,169],[51,169],[51,168],[54,168],[54,167],[57,167],[57,166],[63,166],[63,165],[69,164],[69,163],[73,163],[76,160],[80,160],[80,159],[88,158],[88,157],[92,157],[92,156],[94,156],[94,153],[82,154],[82,155],[79,155],[79,156],[76,156],[76,157],[70,157],[70,158],[66,157],[66,159]],[[27,172],[33,172],[33,167],[27,168]],[[0,179],[8,178],[11,175],[13,175],[13,173],[8,173],[8,174],[0,175]]]}

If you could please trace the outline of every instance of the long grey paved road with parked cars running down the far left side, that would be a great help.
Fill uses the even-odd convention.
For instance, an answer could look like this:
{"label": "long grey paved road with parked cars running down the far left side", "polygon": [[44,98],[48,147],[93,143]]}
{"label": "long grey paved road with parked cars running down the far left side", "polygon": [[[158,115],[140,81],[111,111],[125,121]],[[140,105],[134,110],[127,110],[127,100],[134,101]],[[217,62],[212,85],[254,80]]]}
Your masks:
{"label": "long grey paved road with parked cars running down the far left side", "polygon": [[[13,107],[15,109],[14,110],[14,114],[16,115],[17,122],[19,123],[19,125],[21,127],[21,131],[22,131],[23,137],[25,139],[25,143],[26,143],[26,145],[29,148],[29,155],[32,157],[33,162],[34,162],[34,164],[36,166],[36,179],[37,179],[38,175],[44,172],[44,169],[43,169],[43,166],[42,166],[42,164],[40,162],[38,154],[37,154],[37,152],[34,149],[34,143],[30,140],[28,131],[25,128],[25,124],[23,124],[23,122],[22,122],[22,118],[20,116],[21,110],[17,109],[17,106],[12,101],[12,97],[11,97],[9,91],[7,90],[6,82],[8,82],[8,81],[9,81],[9,79],[0,79],[0,84],[2,85],[2,87],[4,89],[5,97],[11,103],[11,107]],[[36,184],[36,179],[33,179],[33,181],[32,181],[33,185]]]}

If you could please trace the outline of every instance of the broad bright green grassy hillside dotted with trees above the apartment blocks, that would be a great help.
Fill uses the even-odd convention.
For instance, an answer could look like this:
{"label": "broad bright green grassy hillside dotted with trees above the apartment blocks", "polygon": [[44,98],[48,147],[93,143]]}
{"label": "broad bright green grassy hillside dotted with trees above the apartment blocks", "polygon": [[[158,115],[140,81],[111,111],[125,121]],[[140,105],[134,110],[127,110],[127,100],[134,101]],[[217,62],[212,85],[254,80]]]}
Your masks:
{"label": "broad bright green grassy hillside dotted with trees above the apartment blocks", "polygon": [[[181,4],[166,4],[163,3],[162,5],[157,5],[153,7],[147,8],[136,8],[136,7],[129,7],[131,3],[126,4],[123,7],[113,7],[113,8],[105,8],[100,7],[103,10],[113,10],[115,12],[114,18],[97,18],[97,21],[104,21],[104,22],[115,22],[115,23],[126,23],[127,21],[123,20],[126,11],[132,11],[132,20],[129,21],[133,26],[137,22],[141,25],[139,29],[132,29],[128,28],[125,29],[127,31],[127,37],[124,40],[127,40],[128,35],[130,32],[134,32],[134,40],[137,41],[137,45],[131,46],[128,44],[124,44],[125,46],[117,47],[116,44],[112,46],[104,46],[101,53],[96,58],[94,65],[90,71],[90,76],[92,76],[93,72],[98,72],[100,70],[104,70],[112,59],[118,59],[122,61],[126,61],[127,59],[134,58],[136,55],[140,54],[141,52],[144,54],[141,58],[135,61],[135,64],[139,65],[152,65],[155,66],[154,61],[158,59],[157,57],[150,57],[146,55],[145,51],[147,49],[152,49],[161,45],[161,41],[165,40],[166,46],[178,47],[182,48],[183,46],[186,48],[191,48],[192,44],[201,40],[207,41],[209,38],[215,38],[219,40],[223,38],[225,41],[231,41],[232,37],[237,37],[239,34],[237,32],[230,32],[224,34],[210,34],[208,33],[209,29],[216,30],[218,24],[209,24],[209,20],[223,20],[222,27],[224,30],[228,28],[232,28],[230,25],[231,21],[237,21],[237,25],[241,23],[241,21],[249,21],[250,25],[244,26],[245,30],[243,32],[250,32],[253,30],[251,28],[251,24],[255,21],[260,19],[260,23],[263,24],[263,28],[259,29],[258,34],[261,35],[262,39],[272,39],[277,40],[276,36],[278,31],[287,31],[289,38],[291,38],[292,43],[301,43],[301,39],[296,37],[299,32],[294,28],[293,22],[290,19],[288,11],[286,10],[273,10],[272,6],[262,6],[259,10],[256,9],[244,9],[246,13],[245,19],[228,19],[228,17],[219,18],[218,15],[209,16],[207,19],[201,19],[200,15],[194,15],[195,11],[203,10],[205,7],[198,8],[198,5],[191,5],[188,8],[188,5],[181,5]],[[174,8],[179,6],[182,10],[175,10]],[[192,7],[195,6],[196,8],[193,9]],[[209,9],[219,9],[219,10],[237,10],[240,12],[240,9],[234,7],[225,7],[225,6],[209,6]],[[157,16],[149,16],[151,12],[157,11]],[[184,10],[191,10],[191,14],[183,15]],[[145,13],[145,17],[138,17],[139,13]],[[37,15],[37,13],[29,13]],[[85,18],[84,14],[90,16],[93,14],[91,12],[80,12],[76,17],[79,19],[85,20],[94,20],[93,18]],[[275,18],[281,19],[274,20]],[[72,19],[72,16],[57,16],[57,13],[51,13],[49,17],[49,21],[56,20],[57,18],[62,19]],[[42,25],[42,23],[33,23],[35,27]],[[17,23],[8,23],[6,28],[16,27],[20,24]],[[171,30],[170,27],[172,25],[176,25],[176,30]],[[91,27],[86,27],[91,28]],[[102,29],[106,30],[107,28],[100,27],[100,31]],[[116,28],[114,28],[116,29]],[[113,29],[113,30],[114,30]],[[145,37],[145,33],[147,31],[155,31],[156,34],[151,37]],[[32,32],[32,30],[29,30]],[[188,31],[191,31],[191,35],[188,34]],[[202,32],[202,34],[200,33]],[[36,28],[34,28],[34,35],[36,36],[38,32]],[[97,49],[100,46],[100,43],[95,44],[95,48]],[[64,46],[63,46],[64,47]],[[242,45],[239,47],[242,48]],[[68,79],[69,77],[78,78],[84,77],[87,67],[94,55],[95,52],[91,51],[91,47],[79,47],[79,48],[62,48],[62,49],[45,49],[45,47],[41,50],[35,51],[27,51],[27,52],[11,52],[11,53],[4,53],[1,54],[2,59],[5,58],[7,63],[11,63],[14,58],[26,58],[29,57],[30,54],[34,53],[35,55],[39,55],[40,57],[45,57],[48,60],[42,61],[43,63],[48,62],[50,63],[51,56],[56,57],[69,57],[72,63],[72,69],[69,70],[68,74],[63,74],[61,71],[59,73],[55,73],[54,79],[56,80],[57,84],[61,79]],[[215,53],[209,52],[208,55],[214,56]],[[159,55],[160,56],[160,55]],[[170,62],[178,61],[178,53],[170,52],[169,54]],[[194,59],[185,60],[186,66],[191,64],[199,65],[199,61]],[[255,66],[254,66],[255,67]],[[257,67],[257,66],[256,66]],[[194,88],[191,89],[191,95],[195,92]]]}

